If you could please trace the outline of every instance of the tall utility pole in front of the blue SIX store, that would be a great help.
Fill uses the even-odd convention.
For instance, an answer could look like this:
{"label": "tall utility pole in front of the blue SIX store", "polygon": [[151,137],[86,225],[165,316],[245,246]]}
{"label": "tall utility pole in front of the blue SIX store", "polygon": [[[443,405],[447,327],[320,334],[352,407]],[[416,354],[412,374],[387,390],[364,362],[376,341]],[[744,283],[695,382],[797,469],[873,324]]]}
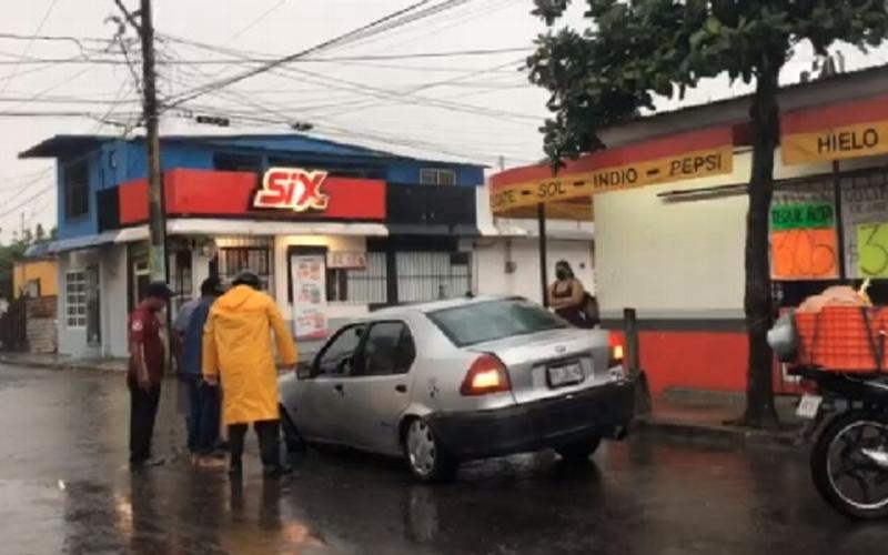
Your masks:
{"label": "tall utility pole in front of the blue SIX store", "polygon": [[[148,150],[148,226],[151,281],[167,281],[167,214],[163,209],[163,179],[160,171],[160,130],[158,89],[154,73],[154,21],[151,0],[140,0],[137,13],[130,13],[123,0],[114,0],[142,42],[142,119],[145,122]],[[137,19],[137,16],[139,19]]]}

